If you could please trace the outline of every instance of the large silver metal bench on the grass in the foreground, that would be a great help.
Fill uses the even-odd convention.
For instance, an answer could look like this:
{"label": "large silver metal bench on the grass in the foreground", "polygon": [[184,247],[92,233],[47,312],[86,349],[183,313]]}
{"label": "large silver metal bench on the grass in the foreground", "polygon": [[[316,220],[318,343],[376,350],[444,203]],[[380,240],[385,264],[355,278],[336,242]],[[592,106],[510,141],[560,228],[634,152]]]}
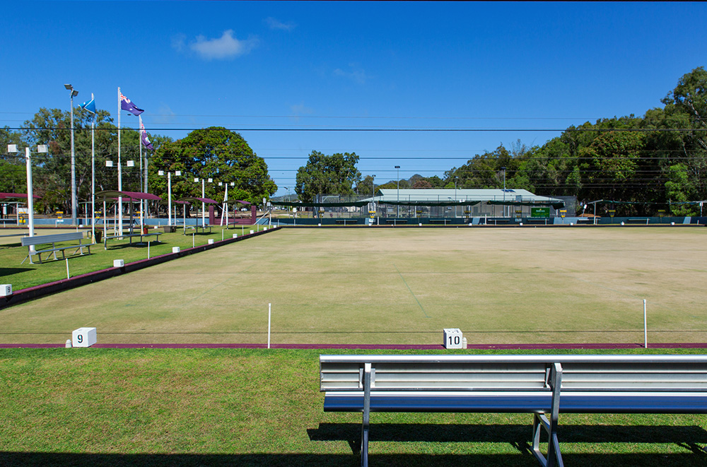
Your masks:
{"label": "large silver metal bench on the grass in the foreground", "polygon": [[[320,355],[324,410],[532,413],[532,452],[563,466],[559,413],[707,413],[707,355]],[[540,451],[542,429],[547,455]]]}

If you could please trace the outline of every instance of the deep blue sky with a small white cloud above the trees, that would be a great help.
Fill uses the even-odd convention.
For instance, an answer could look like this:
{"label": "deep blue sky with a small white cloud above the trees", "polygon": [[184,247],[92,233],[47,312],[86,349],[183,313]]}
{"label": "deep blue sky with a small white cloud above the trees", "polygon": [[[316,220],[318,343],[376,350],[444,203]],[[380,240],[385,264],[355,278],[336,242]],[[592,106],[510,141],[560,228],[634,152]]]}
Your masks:
{"label": "deep blue sky with a small white cloud above the trees", "polygon": [[[0,18],[0,126],[117,88],[148,131],[238,129],[278,195],[312,150],[376,183],[602,117],[643,115],[706,65],[704,3],[13,1]],[[123,112],[122,126],[136,128]],[[255,131],[255,129],[508,131]]]}

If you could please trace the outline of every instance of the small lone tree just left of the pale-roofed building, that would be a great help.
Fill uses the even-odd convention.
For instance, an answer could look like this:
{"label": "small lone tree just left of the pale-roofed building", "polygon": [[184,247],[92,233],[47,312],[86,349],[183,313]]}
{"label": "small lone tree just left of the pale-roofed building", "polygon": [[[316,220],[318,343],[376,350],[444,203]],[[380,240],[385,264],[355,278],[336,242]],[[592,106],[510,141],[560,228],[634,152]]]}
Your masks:
{"label": "small lone tree just left of the pale-roofed building", "polygon": [[312,202],[320,194],[351,195],[361,181],[356,153],[325,155],[312,150],[307,165],[297,170],[295,191],[302,201]]}

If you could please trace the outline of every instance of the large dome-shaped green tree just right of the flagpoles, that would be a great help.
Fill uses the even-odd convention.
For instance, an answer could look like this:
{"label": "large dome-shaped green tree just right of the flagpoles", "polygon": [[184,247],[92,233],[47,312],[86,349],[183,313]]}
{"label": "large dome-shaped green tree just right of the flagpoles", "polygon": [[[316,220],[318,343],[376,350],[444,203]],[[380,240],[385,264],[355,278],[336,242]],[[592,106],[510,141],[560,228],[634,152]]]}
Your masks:
{"label": "large dome-shaped green tree just right of the flagpoles", "polygon": [[[201,183],[198,179],[214,179],[214,182],[229,184],[228,199],[240,199],[250,203],[262,203],[277,191],[276,184],[267,173],[267,164],[259,158],[243,136],[221,126],[194,130],[177,141],[163,141],[156,148],[148,167],[150,192],[167,199],[167,177],[160,177],[158,170],[174,173],[172,197],[187,196],[201,198]],[[230,187],[233,182],[235,187]],[[204,184],[206,198],[223,202],[225,188],[217,183]]]}

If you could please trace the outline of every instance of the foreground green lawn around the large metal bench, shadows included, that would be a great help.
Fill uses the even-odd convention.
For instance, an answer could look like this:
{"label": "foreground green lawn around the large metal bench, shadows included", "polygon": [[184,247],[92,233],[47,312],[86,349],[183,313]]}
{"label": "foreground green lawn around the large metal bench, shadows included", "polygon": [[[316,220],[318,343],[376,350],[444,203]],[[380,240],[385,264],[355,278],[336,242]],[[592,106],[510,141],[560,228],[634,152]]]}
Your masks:
{"label": "foreground green lawn around the large metal bench, shadows included", "polygon": [[[0,350],[0,465],[356,466],[361,415],[323,412],[318,355]],[[531,421],[374,413],[371,465],[535,466]],[[698,466],[706,428],[704,415],[561,414],[559,439],[568,466]]]}

